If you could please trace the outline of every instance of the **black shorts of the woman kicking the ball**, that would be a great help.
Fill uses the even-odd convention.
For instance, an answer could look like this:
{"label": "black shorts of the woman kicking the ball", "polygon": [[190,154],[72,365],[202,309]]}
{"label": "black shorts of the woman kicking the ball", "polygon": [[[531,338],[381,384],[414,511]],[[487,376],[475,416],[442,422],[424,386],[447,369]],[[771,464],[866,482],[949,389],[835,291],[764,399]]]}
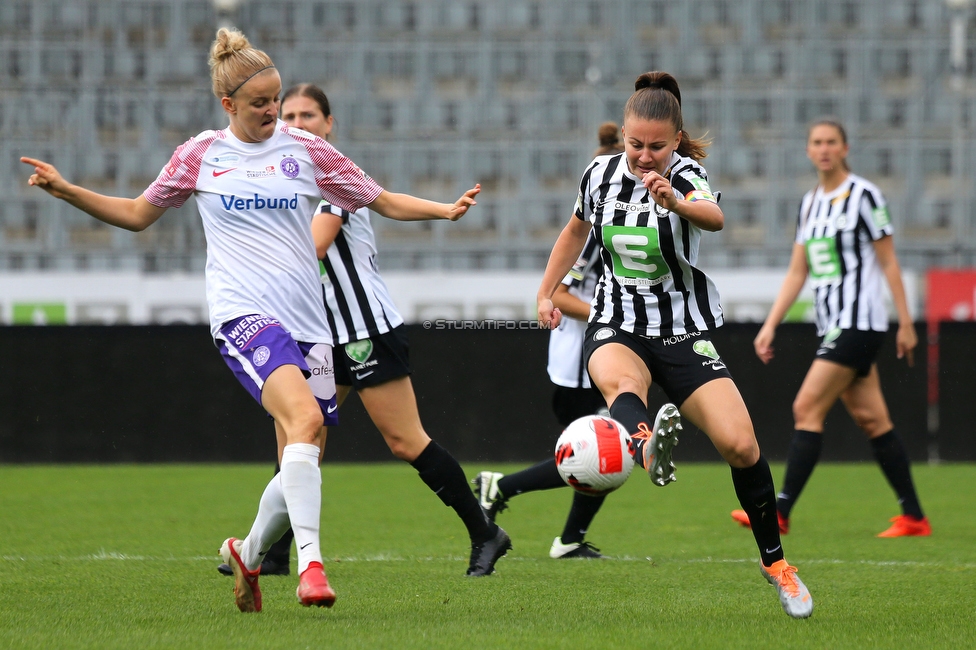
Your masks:
{"label": "black shorts of the woman kicking the ball", "polygon": [[607,343],[620,343],[632,350],[651,373],[651,381],[680,407],[696,390],[720,377],[732,378],[707,332],[678,336],[644,337],[616,325],[590,323],[583,339],[583,358]]}

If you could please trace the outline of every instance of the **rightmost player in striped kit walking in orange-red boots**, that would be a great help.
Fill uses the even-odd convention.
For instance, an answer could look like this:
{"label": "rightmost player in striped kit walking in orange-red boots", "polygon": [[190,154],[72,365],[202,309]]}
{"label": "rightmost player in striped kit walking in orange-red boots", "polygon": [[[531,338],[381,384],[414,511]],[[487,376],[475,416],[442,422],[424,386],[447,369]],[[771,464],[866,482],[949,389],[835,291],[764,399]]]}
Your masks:
{"label": "rightmost player in striped kit walking in orange-red boots", "polygon": [[[912,481],[908,454],[895,434],[881,393],[875,357],[888,330],[881,281],[887,280],[898,312],[898,358],[912,365],[918,337],[895,256],[891,218],[884,197],[847,166],[849,145],[836,120],[820,120],[807,134],[807,156],[819,184],[806,193],[797,218],[789,270],[754,342],[763,363],[773,358],[776,326],[796,300],[807,277],[816,294],[817,334],[824,337],[793,402],[795,431],[783,488],[777,495],[780,531],[820,458],[823,425],[838,398],[871,442],[871,449],[898,495],[902,514],[878,537],[929,535]],[[733,511],[744,526],[749,516]]]}

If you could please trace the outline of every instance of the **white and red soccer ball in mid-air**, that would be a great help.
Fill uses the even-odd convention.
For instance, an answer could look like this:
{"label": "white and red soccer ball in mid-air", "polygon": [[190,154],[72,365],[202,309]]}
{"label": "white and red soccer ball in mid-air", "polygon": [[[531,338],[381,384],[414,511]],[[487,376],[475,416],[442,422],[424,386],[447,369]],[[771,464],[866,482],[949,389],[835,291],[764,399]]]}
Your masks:
{"label": "white and red soccer ball in mid-air", "polygon": [[634,469],[633,443],[623,425],[608,417],[574,420],[556,441],[556,469],[584,494],[609,494]]}

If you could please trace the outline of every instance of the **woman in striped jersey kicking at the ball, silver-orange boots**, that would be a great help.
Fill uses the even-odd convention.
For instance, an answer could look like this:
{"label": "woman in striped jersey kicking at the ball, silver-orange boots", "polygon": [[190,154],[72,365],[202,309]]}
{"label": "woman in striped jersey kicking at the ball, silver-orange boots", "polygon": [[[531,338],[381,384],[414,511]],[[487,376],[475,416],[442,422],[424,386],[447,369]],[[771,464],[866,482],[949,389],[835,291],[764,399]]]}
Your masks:
{"label": "woman in striped jersey kicking at the ball, silver-orange boots", "polygon": [[635,460],[651,480],[672,478],[675,440],[652,431],[647,391],[658,383],[681,415],[704,431],[732,468],[732,482],[753,521],[761,572],[787,614],[805,618],[813,599],[784,559],[769,465],[752,420],[709,331],[722,325],[714,283],[695,267],[703,230],[725,217],[699,160],[705,142],[683,128],[678,83],[642,74],[624,107],[624,152],[597,158],[583,173],[576,208],[549,257],[539,288],[539,320],[557,326],[552,296],[590,230],[603,249],[584,342],[591,380],[637,443]]}

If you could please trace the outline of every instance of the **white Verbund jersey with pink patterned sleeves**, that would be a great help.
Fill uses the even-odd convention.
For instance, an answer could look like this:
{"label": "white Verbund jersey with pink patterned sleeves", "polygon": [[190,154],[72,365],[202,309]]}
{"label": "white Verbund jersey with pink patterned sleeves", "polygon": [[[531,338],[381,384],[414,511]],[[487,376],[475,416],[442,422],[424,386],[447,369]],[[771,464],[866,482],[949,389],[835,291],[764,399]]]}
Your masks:
{"label": "white Verbund jersey with pink patterned sleeves", "polygon": [[231,319],[265,314],[297,341],[329,342],[312,216],[321,199],[352,212],[382,191],[332,145],[279,120],[264,142],[229,128],[187,140],[144,196],[177,208],[196,195],[214,336]]}

